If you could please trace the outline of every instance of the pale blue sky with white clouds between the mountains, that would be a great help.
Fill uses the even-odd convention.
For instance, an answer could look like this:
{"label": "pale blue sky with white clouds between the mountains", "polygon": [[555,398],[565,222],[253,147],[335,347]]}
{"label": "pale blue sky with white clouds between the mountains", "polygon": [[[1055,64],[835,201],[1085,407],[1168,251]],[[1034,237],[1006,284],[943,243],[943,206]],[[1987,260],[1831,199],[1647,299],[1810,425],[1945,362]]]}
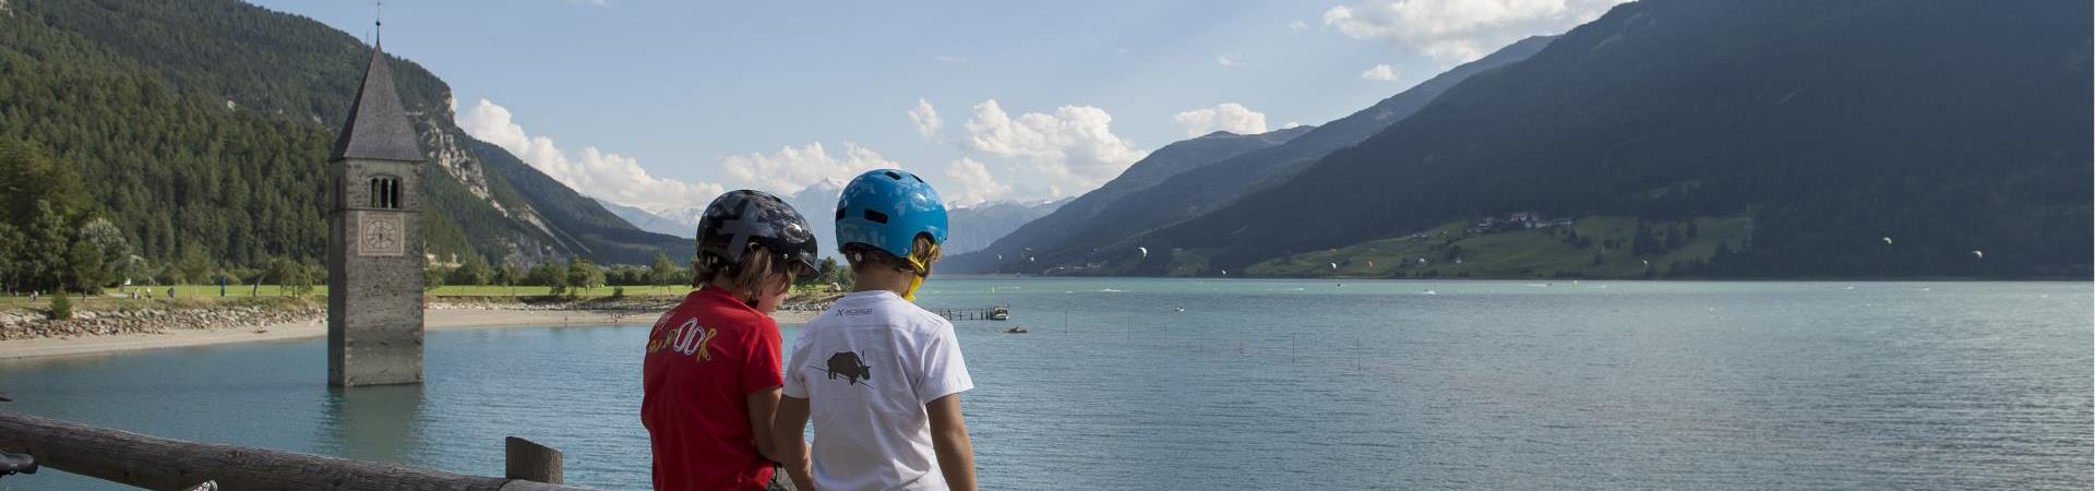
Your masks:
{"label": "pale blue sky with white clouds between the mountains", "polygon": [[[371,31],[371,2],[253,2]],[[461,128],[587,195],[660,210],[901,166],[974,204],[1343,118],[1615,2],[394,0],[383,38],[450,82]]]}

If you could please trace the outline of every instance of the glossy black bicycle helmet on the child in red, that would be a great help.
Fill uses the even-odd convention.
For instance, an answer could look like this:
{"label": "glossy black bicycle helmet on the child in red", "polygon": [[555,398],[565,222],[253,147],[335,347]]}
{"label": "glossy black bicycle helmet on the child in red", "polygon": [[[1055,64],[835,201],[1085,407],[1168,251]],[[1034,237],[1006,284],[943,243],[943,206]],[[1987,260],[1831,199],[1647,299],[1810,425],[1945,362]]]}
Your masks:
{"label": "glossy black bicycle helmet on the child in red", "polygon": [[765,191],[742,189],[714,197],[706,216],[698,218],[698,260],[710,266],[735,264],[750,243],[800,266],[800,277],[815,275],[815,254],[821,248],[800,212]]}

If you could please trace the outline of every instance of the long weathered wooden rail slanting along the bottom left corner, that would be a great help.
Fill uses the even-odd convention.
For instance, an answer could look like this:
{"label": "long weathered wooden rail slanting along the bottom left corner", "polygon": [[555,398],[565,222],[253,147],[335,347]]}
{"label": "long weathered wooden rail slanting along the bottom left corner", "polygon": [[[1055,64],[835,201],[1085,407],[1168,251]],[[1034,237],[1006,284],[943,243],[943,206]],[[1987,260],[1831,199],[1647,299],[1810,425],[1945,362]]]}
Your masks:
{"label": "long weathered wooden rail slanting along the bottom left corner", "polygon": [[572,487],[465,476],[396,464],[189,443],[50,418],[0,411],[0,449],[36,455],[44,468],[142,489],[446,489],[574,491]]}

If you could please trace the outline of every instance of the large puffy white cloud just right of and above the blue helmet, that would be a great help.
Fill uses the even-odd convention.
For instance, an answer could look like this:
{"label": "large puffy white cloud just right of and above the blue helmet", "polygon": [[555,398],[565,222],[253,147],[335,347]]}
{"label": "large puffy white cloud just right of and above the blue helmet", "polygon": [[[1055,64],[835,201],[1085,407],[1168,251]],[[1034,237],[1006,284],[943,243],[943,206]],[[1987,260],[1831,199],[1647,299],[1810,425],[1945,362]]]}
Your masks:
{"label": "large puffy white cloud just right of and above the blue helmet", "polygon": [[1012,118],[995,99],[974,105],[968,120],[970,151],[1012,157],[1045,176],[1050,193],[1083,193],[1135,164],[1146,149],[1112,134],[1112,115],[1089,105],[1064,105],[1054,113]]}

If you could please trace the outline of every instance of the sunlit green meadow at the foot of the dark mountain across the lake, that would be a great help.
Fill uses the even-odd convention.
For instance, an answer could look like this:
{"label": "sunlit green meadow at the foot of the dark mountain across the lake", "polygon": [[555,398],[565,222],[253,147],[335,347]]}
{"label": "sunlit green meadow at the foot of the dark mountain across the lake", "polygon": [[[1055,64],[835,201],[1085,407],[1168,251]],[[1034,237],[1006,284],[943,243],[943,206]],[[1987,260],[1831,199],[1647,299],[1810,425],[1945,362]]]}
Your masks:
{"label": "sunlit green meadow at the foot of the dark mountain across the lake", "polygon": [[[1680,222],[1684,225],[1684,222]],[[1636,256],[1630,239],[1636,235],[1636,218],[1630,216],[1588,216],[1571,225],[1578,237],[1592,246],[1565,241],[1561,229],[1521,229],[1481,235],[1462,235],[1464,222],[1448,222],[1425,231],[1427,239],[1410,237],[1379,239],[1339,248],[1337,252],[1305,252],[1293,258],[1274,258],[1244,271],[1251,277],[1645,277],[1645,266],[1663,277],[1676,262],[1707,260],[1718,243],[1733,250],[1751,233],[1751,218],[1745,216],[1703,216],[1695,218],[1697,235],[1684,246],[1663,254]],[[1446,235],[1443,235],[1446,233]],[[1446,239],[1443,239],[1446,237]],[[1450,241],[1452,239],[1452,241]],[[1617,241],[1615,248],[1601,243]],[[1601,262],[1594,264],[1594,254]],[[1420,264],[1418,258],[1425,258]],[[1456,258],[1462,262],[1456,264]],[[1339,264],[1332,271],[1332,262]]]}

